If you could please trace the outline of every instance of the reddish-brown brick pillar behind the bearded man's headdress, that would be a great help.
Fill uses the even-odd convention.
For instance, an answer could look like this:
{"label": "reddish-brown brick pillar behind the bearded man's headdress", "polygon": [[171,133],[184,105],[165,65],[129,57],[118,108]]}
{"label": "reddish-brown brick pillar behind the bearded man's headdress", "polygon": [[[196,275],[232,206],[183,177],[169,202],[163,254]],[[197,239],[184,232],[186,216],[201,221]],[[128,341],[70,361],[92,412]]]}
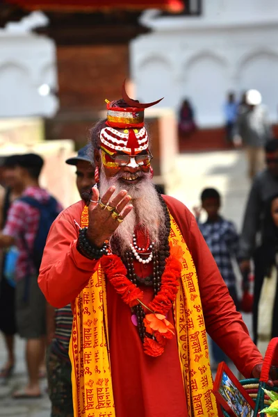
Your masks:
{"label": "reddish-brown brick pillar behind the bearded man's headdress", "polygon": [[104,109],[129,76],[127,44],[57,47],[60,112]]}

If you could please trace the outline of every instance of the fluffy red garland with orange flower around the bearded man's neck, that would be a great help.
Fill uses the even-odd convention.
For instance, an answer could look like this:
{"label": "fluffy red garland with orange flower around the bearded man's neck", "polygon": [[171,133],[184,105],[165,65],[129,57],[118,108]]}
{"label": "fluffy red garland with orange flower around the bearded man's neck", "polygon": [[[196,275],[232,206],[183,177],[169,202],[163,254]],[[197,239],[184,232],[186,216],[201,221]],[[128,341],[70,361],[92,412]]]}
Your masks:
{"label": "fluffy red garland with orange flower around the bearded man's neck", "polygon": [[[103,256],[101,266],[104,268],[106,277],[126,304],[133,307],[142,302],[143,292],[126,278],[126,267],[119,256],[115,254]],[[170,255],[166,259],[165,270],[161,276],[161,289],[148,306],[151,311],[156,313],[156,317],[153,317],[154,314],[147,314],[144,319],[147,332],[152,333],[153,336],[153,338],[146,336],[143,343],[144,352],[149,356],[157,357],[163,354],[167,338],[172,338],[174,334],[172,332],[174,327],[166,320],[165,315],[170,311],[172,303],[176,299],[180,276],[181,262],[175,256]]]}

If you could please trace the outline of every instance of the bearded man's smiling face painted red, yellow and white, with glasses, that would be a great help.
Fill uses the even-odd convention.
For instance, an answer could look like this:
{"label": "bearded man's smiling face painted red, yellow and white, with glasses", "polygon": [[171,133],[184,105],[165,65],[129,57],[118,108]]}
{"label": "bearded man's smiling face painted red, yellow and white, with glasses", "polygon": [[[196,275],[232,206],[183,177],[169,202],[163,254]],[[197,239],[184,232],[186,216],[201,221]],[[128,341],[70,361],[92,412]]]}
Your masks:
{"label": "bearded man's smiling face painted red, yellow and white, with glasses", "polygon": [[136,183],[140,172],[149,172],[152,154],[145,127],[142,129],[102,129],[100,136],[101,163],[106,177],[122,172],[121,181]]}

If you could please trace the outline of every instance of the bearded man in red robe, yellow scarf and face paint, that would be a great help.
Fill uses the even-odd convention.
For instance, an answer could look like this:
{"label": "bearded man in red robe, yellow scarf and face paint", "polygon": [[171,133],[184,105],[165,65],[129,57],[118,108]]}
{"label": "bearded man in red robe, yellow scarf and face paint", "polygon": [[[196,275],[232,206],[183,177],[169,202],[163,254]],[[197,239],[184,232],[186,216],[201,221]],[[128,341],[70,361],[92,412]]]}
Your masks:
{"label": "bearded man in red robe, yellow scarf and face paint", "polygon": [[54,222],[40,270],[47,300],[72,302],[74,416],[218,416],[206,331],[246,377],[263,359],[193,215],[156,193],[147,105],[122,95],[92,129],[97,188]]}

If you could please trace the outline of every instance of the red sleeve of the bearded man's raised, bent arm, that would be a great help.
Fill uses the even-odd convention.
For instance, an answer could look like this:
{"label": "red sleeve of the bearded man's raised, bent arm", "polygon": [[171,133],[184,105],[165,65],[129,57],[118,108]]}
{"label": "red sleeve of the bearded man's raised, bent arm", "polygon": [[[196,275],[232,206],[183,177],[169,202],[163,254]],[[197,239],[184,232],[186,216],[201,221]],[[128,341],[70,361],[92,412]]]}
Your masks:
{"label": "red sleeve of the bearded man's raised, bent arm", "polygon": [[52,224],[44,248],[38,284],[52,306],[63,307],[79,295],[97,269],[92,261],[76,249],[83,202],[64,210]]}

